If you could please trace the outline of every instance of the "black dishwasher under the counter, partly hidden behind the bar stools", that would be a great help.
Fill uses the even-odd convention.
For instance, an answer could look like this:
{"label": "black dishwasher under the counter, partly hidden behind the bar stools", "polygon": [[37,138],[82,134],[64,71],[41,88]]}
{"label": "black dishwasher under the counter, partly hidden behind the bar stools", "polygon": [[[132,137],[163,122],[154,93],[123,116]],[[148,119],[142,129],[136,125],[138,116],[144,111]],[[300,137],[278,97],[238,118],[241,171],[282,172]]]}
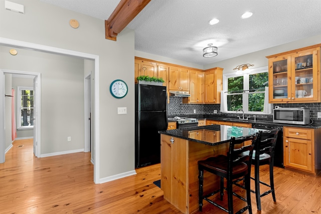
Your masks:
{"label": "black dishwasher under the counter, partly hidden behind the bar stools", "polygon": [[[278,135],[277,135],[277,139],[276,139],[276,143],[275,143],[273,165],[284,168],[284,162],[283,162],[283,126],[253,123],[252,124],[252,128],[266,129],[266,130],[272,130],[272,129],[280,130]],[[264,139],[262,139],[262,140],[264,140]]]}

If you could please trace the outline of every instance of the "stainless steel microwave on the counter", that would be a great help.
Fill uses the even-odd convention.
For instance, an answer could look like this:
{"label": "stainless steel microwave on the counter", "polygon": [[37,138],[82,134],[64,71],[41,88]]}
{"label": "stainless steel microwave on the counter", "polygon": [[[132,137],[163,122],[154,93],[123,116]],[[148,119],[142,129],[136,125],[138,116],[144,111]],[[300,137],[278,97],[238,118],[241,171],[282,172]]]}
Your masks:
{"label": "stainless steel microwave on the counter", "polygon": [[273,122],[305,125],[310,122],[310,109],[308,108],[275,108],[273,109]]}

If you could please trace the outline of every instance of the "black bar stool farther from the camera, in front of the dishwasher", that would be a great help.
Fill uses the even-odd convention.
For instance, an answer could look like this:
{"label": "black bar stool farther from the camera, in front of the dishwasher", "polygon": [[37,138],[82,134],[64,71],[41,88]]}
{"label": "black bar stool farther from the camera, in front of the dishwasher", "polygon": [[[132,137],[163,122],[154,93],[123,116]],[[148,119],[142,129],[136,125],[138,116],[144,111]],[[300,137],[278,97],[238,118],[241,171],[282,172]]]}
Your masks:
{"label": "black bar stool farther from the camera, in front of the dishwasher", "polygon": [[[256,197],[256,205],[257,209],[261,210],[261,197],[272,193],[273,201],[276,201],[275,191],[274,191],[274,175],[273,175],[273,161],[274,161],[274,149],[276,138],[279,133],[279,130],[268,130],[268,131],[260,131],[261,139],[258,139],[258,143],[255,145],[252,155],[252,165],[254,165],[254,178],[251,177],[255,181],[255,191],[251,190],[251,192],[255,193]],[[248,153],[248,152],[247,152]],[[269,165],[269,175],[270,175],[270,184],[267,184],[263,181],[260,181],[260,166],[261,165]],[[240,185],[238,182],[242,179],[238,179],[234,181],[235,185],[238,185],[242,188],[245,188],[244,185]],[[269,190],[260,192],[260,184],[270,187]]]}

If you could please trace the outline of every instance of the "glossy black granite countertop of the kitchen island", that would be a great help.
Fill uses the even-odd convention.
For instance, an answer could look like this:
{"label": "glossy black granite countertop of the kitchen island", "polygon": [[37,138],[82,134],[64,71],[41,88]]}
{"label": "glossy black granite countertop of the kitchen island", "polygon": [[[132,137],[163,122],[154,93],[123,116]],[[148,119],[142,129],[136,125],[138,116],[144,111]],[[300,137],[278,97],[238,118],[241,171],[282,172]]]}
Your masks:
{"label": "glossy black granite countertop of the kitchen island", "polygon": [[[256,128],[244,128],[227,125],[209,125],[209,126],[197,126],[190,128],[178,128],[172,130],[158,131],[160,134],[166,134],[173,137],[178,137],[186,140],[203,143],[206,145],[219,145],[222,143],[229,142],[231,137],[242,137],[257,133],[259,130],[265,131],[264,129]],[[193,134],[193,132],[199,132],[199,134]],[[216,133],[217,137],[207,137],[206,133]]]}

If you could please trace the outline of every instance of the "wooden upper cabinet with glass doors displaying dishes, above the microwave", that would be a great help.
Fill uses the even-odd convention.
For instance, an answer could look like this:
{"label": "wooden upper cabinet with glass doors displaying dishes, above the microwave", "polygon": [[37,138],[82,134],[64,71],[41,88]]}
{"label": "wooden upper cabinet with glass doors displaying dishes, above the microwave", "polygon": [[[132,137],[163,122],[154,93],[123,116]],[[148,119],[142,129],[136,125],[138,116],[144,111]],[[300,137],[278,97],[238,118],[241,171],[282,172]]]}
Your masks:
{"label": "wooden upper cabinet with glass doors displaying dishes, above the microwave", "polygon": [[320,102],[321,44],[268,56],[269,102]]}

